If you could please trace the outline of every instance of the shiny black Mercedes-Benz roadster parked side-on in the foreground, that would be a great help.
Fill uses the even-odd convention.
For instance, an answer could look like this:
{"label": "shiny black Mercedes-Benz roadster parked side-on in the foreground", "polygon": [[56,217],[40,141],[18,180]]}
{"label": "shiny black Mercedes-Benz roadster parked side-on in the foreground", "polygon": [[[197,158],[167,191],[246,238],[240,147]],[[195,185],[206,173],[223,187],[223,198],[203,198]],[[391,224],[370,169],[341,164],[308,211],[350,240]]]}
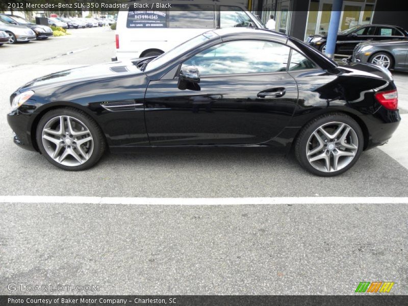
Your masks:
{"label": "shiny black Mercedes-Benz roadster parked side-on in the foreground", "polygon": [[47,75],[11,95],[14,142],[82,170],[106,149],[280,146],[322,176],[349,169],[398,126],[391,74],[339,66],[283,34],[221,29],[159,56]]}

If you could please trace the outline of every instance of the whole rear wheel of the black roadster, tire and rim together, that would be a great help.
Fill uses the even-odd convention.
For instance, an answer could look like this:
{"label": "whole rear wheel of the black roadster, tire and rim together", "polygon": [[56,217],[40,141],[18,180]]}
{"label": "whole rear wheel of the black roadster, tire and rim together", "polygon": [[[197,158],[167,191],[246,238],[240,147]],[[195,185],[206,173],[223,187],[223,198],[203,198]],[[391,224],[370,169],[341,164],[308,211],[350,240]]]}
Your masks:
{"label": "whole rear wheel of the black roadster, tire and rim together", "polygon": [[296,139],[300,165],[320,176],[335,176],[350,169],[363,150],[360,125],[343,113],[325,114],[303,127]]}

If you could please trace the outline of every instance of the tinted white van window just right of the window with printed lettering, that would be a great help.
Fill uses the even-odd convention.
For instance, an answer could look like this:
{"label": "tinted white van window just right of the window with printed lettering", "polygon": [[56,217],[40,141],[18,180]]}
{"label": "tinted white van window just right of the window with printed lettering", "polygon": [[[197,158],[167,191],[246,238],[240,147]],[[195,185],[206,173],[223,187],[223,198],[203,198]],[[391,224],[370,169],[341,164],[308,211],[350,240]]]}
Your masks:
{"label": "tinted white van window just right of the window with printed lettering", "polygon": [[172,5],[169,28],[215,29],[213,5]]}

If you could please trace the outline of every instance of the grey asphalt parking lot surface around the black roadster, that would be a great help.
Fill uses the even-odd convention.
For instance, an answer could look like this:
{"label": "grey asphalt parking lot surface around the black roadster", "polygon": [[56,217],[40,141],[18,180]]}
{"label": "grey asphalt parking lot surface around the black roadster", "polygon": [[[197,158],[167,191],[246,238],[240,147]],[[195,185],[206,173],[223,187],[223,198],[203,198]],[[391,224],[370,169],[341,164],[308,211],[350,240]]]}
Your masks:
{"label": "grey asphalt parking lot surface around the black roadster", "polygon": [[[9,283],[92,284],[87,294],[353,294],[363,281],[408,293],[407,203],[314,203],[315,197],[407,197],[406,124],[341,176],[322,178],[265,148],[143,149],[65,172],[18,148],[10,94],[41,75],[110,61],[114,32],[0,47],[0,198],[156,198],[157,205],[0,203],[0,294]],[[408,73],[395,73],[403,119]],[[311,197],[260,205],[255,197]],[[161,205],[160,198],[163,198]],[[191,205],[164,205],[191,198]],[[193,198],[210,205],[195,205]],[[211,205],[214,198],[249,198]],[[188,199],[186,200],[189,201]],[[245,202],[246,200],[244,200]],[[75,293],[75,292],[57,292]]]}

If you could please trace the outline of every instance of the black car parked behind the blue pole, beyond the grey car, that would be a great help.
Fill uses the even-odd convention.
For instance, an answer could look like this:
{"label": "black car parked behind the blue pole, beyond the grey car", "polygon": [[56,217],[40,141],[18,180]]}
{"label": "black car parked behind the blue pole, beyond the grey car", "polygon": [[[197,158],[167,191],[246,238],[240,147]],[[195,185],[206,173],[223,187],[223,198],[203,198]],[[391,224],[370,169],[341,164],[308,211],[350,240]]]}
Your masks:
{"label": "black car parked behind the blue pole, beyond the grey car", "polygon": [[[408,40],[408,32],[394,25],[364,24],[339,32],[336,42],[336,54],[351,55],[356,45],[369,40]],[[326,51],[327,35],[310,35],[306,42],[321,52]]]}

